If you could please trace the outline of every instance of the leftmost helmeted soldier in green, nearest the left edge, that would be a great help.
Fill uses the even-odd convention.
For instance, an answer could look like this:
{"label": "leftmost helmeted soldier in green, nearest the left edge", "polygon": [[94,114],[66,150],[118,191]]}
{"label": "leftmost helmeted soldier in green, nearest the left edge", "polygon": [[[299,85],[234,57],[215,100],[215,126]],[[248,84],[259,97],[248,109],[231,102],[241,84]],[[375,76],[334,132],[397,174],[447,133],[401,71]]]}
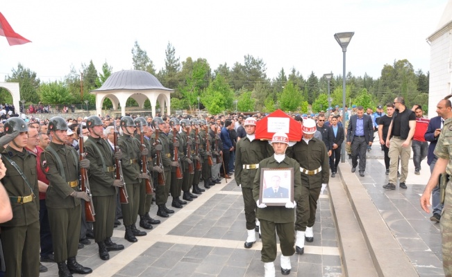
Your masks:
{"label": "leftmost helmeted soldier in green, nearest the left edge", "polygon": [[[5,276],[39,276],[40,221],[39,190],[35,156],[25,150],[28,127],[22,118],[6,120],[0,139],[1,160],[6,176],[1,179],[8,193],[12,220],[0,224],[5,253]],[[8,147],[3,148],[9,143]]]}

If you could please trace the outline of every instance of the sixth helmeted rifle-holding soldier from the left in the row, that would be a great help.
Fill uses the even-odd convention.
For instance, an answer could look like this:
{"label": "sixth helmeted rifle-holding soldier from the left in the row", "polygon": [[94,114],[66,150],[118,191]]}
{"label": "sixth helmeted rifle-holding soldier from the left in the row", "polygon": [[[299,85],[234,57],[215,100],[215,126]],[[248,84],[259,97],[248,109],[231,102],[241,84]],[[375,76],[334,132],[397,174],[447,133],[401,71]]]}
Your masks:
{"label": "sixth helmeted rifle-holding soldier from the left in the row", "polygon": [[[176,165],[171,161],[171,154],[169,153],[168,132],[169,125],[156,116],[151,121],[151,126],[154,128],[154,134],[151,136],[152,145],[156,145],[156,151],[160,151],[161,166],[163,167],[162,174],[165,176],[164,184],[156,184],[156,204],[158,206],[157,215],[160,217],[169,217],[169,213],[174,213],[174,210],[167,208],[169,188],[171,186],[171,164]],[[160,145],[160,147],[158,146]]]}

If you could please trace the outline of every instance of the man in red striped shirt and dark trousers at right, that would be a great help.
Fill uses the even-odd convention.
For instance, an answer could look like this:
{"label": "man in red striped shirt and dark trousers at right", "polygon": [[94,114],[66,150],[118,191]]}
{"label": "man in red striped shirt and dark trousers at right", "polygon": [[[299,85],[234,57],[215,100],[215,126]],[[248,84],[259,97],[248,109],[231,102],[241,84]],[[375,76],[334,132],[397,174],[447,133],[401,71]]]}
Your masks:
{"label": "man in red striped shirt and dark trousers at right", "polygon": [[411,145],[413,152],[412,161],[415,163],[415,175],[420,175],[419,170],[421,170],[421,161],[427,157],[428,152],[428,142],[424,139],[424,134],[427,132],[430,120],[424,118],[424,112],[420,105],[414,105],[412,110],[415,111],[416,115],[416,130]]}

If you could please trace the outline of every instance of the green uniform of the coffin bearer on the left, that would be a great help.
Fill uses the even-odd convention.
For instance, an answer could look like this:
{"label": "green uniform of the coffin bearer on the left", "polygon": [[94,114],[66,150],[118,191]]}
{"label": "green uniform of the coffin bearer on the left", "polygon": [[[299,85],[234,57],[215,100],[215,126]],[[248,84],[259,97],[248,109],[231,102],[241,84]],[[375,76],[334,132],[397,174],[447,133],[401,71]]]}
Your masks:
{"label": "green uniform of the coffin bearer on the left", "polygon": [[[235,149],[235,181],[242,185],[246,230],[256,228],[256,201],[253,199],[253,181],[259,171],[257,165],[273,154],[268,141],[250,141],[247,136],[237,142]],[[244,168],[245,167],[245,168]]]}

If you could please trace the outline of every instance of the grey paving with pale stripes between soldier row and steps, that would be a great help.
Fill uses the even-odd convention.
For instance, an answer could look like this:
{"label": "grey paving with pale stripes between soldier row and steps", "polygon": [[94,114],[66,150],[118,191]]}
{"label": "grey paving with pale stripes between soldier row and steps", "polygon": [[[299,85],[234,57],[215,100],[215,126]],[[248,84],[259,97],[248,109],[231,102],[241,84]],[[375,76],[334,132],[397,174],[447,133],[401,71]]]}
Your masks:
{"label": "grey paving with pale stripes between soldier row and steps", "polygon": [[[171,206],[170,201],[167,206]],[[93,269],[89,276],[263,276],[260,239],[251,249],[244,248],[243,206],[242,191],[235,180],[225,184],[223,179],[167,219],[157,217],[153,206],[151,217],[162,223],[147,231],[147,236],[138,237],[136,243],[124,240],[124,226],[119,226],[112,240],[126,249],[110,252],[110,260],[99,258],[94,240],[78,251],[77,260]],[[292,256],[290,276],[342,276],[327,193],[319,198],[314,236],[314,242],[305,243],[303,255]],[[282,276],[280,254],[278,245],[276,276]],[[44,265],[49,271],[40,276],[58,276],[56,264]]]}

